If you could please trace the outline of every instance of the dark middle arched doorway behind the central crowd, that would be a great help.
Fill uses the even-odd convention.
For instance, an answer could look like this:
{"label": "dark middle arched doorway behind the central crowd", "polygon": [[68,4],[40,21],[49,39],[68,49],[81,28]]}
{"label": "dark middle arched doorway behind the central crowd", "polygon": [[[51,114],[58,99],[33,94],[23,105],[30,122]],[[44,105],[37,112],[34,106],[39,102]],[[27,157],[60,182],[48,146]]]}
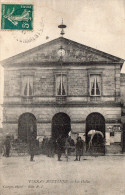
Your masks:
{"label": "dark middle arched doorway behind the central crowd", "polygon": [[71,130],[70,117],[63,112],[55,114],[52,119],[52,137],[54,139],[57,139],[59,136],[65,138],[68,136],[70,130]]}

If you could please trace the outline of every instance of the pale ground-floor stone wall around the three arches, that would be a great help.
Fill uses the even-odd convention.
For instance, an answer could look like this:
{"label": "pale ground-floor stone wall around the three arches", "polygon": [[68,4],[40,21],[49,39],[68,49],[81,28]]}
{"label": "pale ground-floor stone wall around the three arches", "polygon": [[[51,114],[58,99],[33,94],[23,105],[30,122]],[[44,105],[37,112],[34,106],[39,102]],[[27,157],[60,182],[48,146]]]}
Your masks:
{"label": "pale ground-floor stone wall around the three arches", "polygon": [[4,108],[4,132],[13,132],[17,135],[18,119],[23,113],[32,113],[37,119],[37,131],[40,135],[51,135],[52,118],[56,113],[66,113],[71,119],[73,132],[86,131],[86,118],[92,112],[99,112],[106,120],[106,128],[118,124],[121,118],[120,107],[19,107],[9,106]]}

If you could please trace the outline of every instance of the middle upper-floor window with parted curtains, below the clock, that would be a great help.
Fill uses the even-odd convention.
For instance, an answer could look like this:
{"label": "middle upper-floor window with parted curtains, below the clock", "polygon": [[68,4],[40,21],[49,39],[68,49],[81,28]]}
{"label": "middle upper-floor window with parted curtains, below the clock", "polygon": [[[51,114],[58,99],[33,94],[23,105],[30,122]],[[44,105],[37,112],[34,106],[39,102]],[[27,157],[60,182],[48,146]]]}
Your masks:
{"label": "middle upper-floor window with parted curtains, below the clock", "polygon": [[56,75],[56,95],[57,96],[67,95],[67,75],[66,74]]}

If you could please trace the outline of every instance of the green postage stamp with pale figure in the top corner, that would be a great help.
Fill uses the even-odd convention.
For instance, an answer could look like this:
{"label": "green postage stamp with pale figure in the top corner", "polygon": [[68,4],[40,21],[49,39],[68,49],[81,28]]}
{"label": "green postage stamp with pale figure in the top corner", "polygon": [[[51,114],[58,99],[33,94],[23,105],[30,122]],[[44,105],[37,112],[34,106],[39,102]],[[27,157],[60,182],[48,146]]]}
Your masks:
{"label": "green postage stamp with pale figure in the top corner", "polygon": [[33,29],[33,5],[2,4],[1,9],[1,29]]}

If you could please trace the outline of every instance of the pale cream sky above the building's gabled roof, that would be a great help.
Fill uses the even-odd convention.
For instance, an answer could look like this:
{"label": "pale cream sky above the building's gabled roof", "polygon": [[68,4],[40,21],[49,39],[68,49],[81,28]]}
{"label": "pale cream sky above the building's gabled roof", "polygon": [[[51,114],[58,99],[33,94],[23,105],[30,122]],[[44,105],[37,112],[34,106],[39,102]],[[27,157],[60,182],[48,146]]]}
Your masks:
{"label": "pale cream sky above the building's gabled roof", "polygon": [[[2,3],[9,0],[1,0]],[[33,31],[1,30],[0,60],[59,37],[62,18],[67,25],[66,38],[125,59],[125,0],[11,0],[10,3],[34,5]],[[2,102],[1,67],[0,71]]]}

